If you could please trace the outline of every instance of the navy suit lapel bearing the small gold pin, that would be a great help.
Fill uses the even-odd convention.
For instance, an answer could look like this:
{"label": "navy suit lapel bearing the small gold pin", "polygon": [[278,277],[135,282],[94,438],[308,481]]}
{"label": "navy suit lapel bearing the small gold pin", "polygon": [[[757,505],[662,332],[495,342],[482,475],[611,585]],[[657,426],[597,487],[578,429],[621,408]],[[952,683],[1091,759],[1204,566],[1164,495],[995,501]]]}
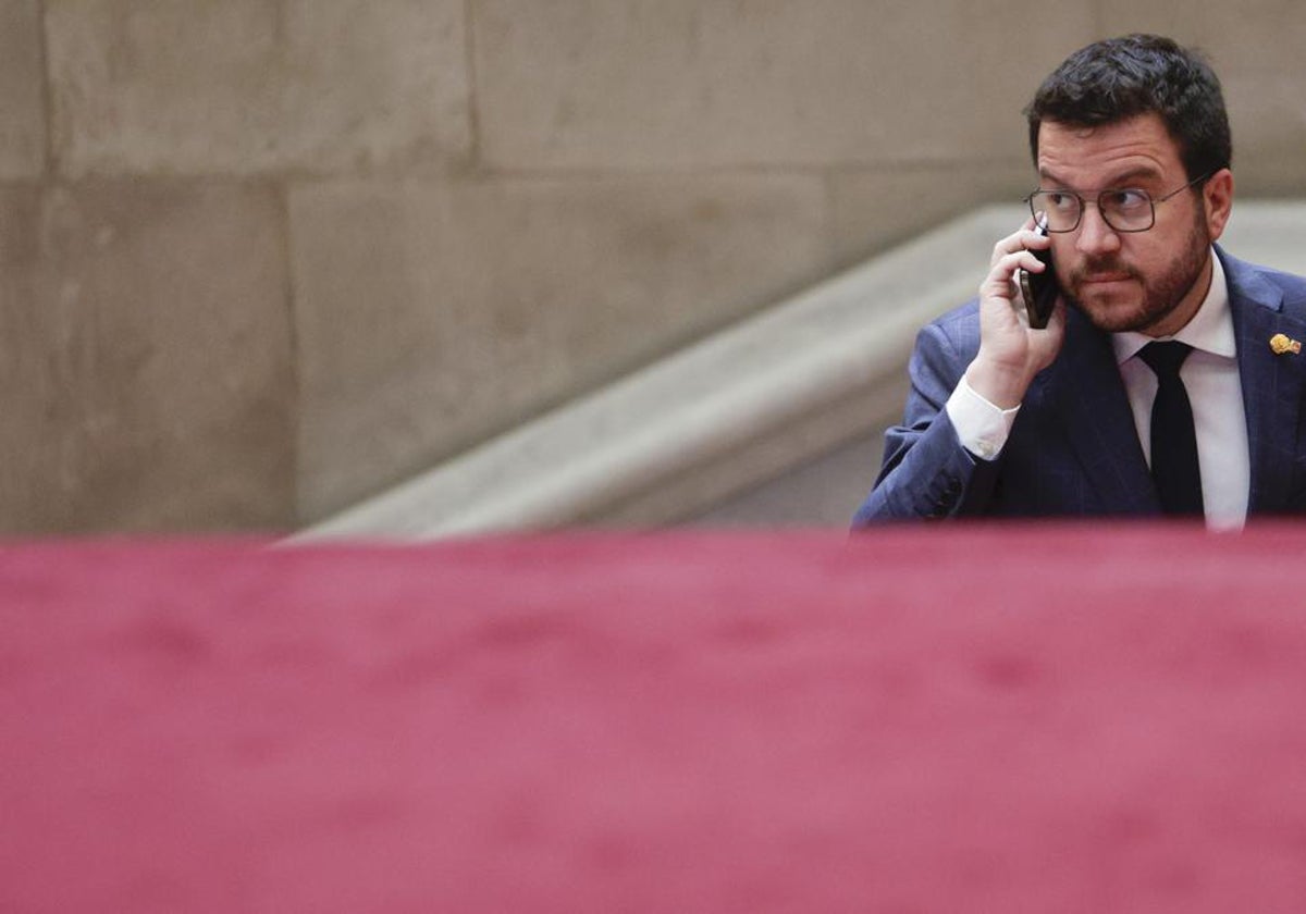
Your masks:
{"label": "navy suit lapel bearing the small gold pin", "polygon": [[1238,346],[1238,380],[1251,453],[1249,513],[1288,507],[1297,461],[1297,426],[1306,393],[1306,353],[1276,354],[1276,334],[1306,342],[1306,324],[1282,312],[1282,294],[1247,265],[1221,253]]}

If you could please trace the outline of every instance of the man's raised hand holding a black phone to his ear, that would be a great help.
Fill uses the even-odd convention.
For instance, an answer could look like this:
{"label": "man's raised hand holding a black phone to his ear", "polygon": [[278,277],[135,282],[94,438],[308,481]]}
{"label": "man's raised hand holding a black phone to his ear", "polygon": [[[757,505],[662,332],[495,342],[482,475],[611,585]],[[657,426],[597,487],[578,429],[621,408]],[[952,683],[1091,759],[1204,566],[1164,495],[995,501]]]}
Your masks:
{"label": "man's raised hand holding a black phone to his ear", "polygon": [[1043,265],[1033,248],[1046,248],[1051,239],[1034,231],[1034,221],[998,242],[991,269],[980,286],[980,354],[966,368],[966,383],[981,397],[1000,409],[1019,406],[1029,383],[1060,351],[1066,337],[1066,303],[1058,298],[1047,326],[1029,328],[1020,292],[1013,281],[1017,269],[1041,273]]}

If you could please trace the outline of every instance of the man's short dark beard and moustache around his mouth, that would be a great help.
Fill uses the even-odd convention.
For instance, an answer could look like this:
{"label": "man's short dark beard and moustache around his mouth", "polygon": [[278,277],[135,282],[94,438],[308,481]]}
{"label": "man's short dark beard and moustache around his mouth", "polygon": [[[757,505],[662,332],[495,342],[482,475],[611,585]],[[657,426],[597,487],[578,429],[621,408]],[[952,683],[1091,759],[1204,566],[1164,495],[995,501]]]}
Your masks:
{"label": "man's short dark beard and moustache around his mouth", "polygon": [[[1207,231],[1205,206],[1198,206],[1192,230],[1178,257],[1170,261],[1169,269],[1160,276],[1144,277],[1138,269],[1117,260],[1114,256],[1087,260],[1067,277],[1063,291],[1070,302],[1079,307],[1100,330],[1122,333],[1124,330],[1147,332],[1165,320],[1188,294],[1202,277],[1211,252],[1211,235]],[[1128,306],[1121,303],[1096,304],[1085,307],[1079,291],[1084,278],[1091,276],[1128,276],[1141,283],[1143,299]]]}

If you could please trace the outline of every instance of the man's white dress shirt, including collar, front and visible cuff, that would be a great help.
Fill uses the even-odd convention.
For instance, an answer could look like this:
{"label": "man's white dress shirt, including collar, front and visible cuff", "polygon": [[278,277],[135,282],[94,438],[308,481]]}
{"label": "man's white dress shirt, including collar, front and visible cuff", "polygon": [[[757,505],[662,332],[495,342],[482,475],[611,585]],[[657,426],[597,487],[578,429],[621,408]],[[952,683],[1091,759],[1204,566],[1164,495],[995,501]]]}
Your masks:
{"label": "man's white dress shirt, including collar, front and visible cuff", "polygon": [[[1192,405],[1207,526],[1237,530],[1247,520],[1251,487],[1247,417],[1238,379],[1229,285],[1213,251],[1211,262],[1211,289],[1202,307],[1183,329],[1164,339],[1178,339],[1194,350],[1183,362],[1179,377]],[[1134,413],[1134,427],[1148,464],[1152,461],[1152,401],[1156,400],[1157,381],[1138,354],[1152,339],[1141,333],[1111,334],[1115,362]],[[963,375],[946,409],[963,447],[981,460],[994,460],[1006,445],[1020,407],[998,409],[976,393]]]}

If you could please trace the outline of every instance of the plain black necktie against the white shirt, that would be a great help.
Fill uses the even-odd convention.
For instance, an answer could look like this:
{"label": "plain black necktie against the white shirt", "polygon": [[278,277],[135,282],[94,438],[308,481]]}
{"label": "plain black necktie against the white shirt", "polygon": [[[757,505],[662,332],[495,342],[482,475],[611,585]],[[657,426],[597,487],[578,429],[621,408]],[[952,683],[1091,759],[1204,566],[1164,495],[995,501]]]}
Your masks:
{"label": "plain black necktie against the white shirt", "polygon": [[1152,479],[1166,514],[1202,514],[1202,473],[1192,406],[1179,380],[1179,366],[1192,347],[1181,342],[1152,342],[1139,355],[1156,372],[1152,403]]}

